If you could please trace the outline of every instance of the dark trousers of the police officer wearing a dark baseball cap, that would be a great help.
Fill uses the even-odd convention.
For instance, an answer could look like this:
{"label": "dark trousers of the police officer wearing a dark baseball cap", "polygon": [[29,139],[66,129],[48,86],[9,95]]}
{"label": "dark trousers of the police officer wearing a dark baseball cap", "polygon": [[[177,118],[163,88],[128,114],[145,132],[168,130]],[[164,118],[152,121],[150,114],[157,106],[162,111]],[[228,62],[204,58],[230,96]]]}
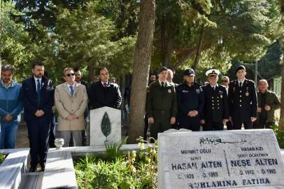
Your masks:
{"label": "dark trousers of the police officer wearing a dark baseball cap", "polygon": [[186,130],[192,130],[200,131],[200,117],[199,116],[179,116],[178,117],[178,130],[180,129],[186,129]]}

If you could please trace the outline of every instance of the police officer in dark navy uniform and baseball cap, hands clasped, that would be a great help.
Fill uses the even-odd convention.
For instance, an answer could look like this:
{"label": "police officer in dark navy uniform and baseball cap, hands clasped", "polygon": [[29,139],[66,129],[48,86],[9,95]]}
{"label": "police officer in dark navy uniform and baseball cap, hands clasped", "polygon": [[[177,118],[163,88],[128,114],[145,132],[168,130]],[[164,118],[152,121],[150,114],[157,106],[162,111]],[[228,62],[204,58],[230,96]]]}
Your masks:
{"label": "police officer in dark navy uniform and baseball cap, hands clasped", "polygon": [[185,82],[178,85],[178,129],[200,130],[200,113],[204,106],[204,94],[198,83],[194,83],[194,70],[185,70]]}

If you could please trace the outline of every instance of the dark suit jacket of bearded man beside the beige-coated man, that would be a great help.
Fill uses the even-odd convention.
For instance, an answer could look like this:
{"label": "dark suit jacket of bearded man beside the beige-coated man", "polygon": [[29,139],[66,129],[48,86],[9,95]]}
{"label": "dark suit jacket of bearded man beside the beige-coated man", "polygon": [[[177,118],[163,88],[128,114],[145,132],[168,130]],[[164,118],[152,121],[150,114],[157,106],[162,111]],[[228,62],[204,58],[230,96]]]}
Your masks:
{"label": "dark suit jacket of bearded man beside the beige-coated man", "polygon": [[[55,89],[51,80],[45,77],[42,77],[41,79],[40,104],[38,104],[38,93],[36,92],[34,76],[23,80],[21,93],[22,104],[24,105],[24,120],[52,118],[52,106],[55,102]],[[34,115],[38,110],[44,112],[43,116],[37,117]]]}

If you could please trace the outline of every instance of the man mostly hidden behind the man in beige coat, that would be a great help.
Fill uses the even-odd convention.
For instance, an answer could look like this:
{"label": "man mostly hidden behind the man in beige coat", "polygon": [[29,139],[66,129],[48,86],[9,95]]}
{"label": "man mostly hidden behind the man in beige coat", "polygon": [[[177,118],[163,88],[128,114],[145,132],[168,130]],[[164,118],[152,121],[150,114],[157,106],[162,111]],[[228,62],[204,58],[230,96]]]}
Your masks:
{"label": "man mostly hidden behind the man in beige coat", "polygon": [[[80,69],[73,69],[74,73],[75,73],[75,82],[85,85],[86,90],[87,90],[87,97],[88,97],[88,103],[89,103],[89,93],[90,93],[90,88],[89,85],[87,85],[87,83],[85,83],[83,80],[81,80],[82,77],[82,72],[80,71]],[[85,127],[87,128],[87,116],[89,116],[89,108],[88,106],[86,107],[85,111],[84,111],[84,118],[85,118]],[[74,146],[73,144],[73,137],[71,137],[71,141],[70,141],[71,145],[69,144],[69,146]],[[85,130],[82,131],[82,146],[87,146],[87,132]]]}

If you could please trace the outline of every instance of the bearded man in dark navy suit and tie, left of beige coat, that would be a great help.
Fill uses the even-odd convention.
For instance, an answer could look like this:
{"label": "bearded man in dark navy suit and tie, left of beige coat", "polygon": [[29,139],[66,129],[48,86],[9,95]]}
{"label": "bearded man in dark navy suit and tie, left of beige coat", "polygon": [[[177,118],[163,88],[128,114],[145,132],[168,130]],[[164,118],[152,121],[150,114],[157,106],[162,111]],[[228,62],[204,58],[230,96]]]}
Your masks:
{"label": "bearded man in dark navy suit and tie, left of beige coat", "polygon": [[55,90],[52,81],[43,77],[43,69],[42,62],[34,62],[31,69],[34,76],[22,82],[24,120],[27,122],[29,148],[31,148],[29,172],[36,171],[38,162],[41,170],[44,171],[48,155],[48,138]]}

